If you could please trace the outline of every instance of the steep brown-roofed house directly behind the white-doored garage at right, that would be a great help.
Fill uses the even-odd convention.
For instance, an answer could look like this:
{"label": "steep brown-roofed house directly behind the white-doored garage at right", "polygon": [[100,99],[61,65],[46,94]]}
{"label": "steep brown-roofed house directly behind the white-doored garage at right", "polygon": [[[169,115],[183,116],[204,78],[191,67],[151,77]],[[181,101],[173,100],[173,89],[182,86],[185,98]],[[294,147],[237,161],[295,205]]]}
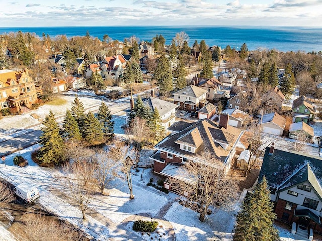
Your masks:
{"label": "steep brown-roofed house directly behind the white-doored garage at right", "polygon": [[260,111],[261,114],[269,114],[275,111],[279,111],[282,109],[283,102],[285,100],[285,96],[280,91],[280,89],[276,86],[273,89],[266,92],[262,97],[262,106],[263,108]]}

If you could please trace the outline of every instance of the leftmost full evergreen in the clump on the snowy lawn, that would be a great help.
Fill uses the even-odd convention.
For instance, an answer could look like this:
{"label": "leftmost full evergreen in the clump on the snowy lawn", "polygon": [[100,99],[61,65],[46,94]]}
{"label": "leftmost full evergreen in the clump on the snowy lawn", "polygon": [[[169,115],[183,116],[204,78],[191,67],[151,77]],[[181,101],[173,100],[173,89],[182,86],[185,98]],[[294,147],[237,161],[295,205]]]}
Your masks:
{"label": "leftmost full evergreen in the clump on the snowy lawn", "polygon": [[41,148],[37,153],[39,162],[59,164],[65,160],[64,141],[59,135],[59,125],[52,111],[46,116],[43,125],[41,128],[43,133],[40,136]]}

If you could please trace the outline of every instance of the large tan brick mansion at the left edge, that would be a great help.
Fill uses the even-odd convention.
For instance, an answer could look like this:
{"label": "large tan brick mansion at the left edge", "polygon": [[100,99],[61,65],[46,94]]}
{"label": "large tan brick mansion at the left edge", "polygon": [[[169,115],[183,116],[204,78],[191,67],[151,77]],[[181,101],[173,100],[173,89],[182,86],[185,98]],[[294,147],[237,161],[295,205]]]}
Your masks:
{"label": "large tan brick mansion at the left edge", "polygon": [[27,68],[21,71],[0,70],[0,109],[30,111],[32,104],[38,103],[37,94],[42,94],[42,88],[35,84]]}

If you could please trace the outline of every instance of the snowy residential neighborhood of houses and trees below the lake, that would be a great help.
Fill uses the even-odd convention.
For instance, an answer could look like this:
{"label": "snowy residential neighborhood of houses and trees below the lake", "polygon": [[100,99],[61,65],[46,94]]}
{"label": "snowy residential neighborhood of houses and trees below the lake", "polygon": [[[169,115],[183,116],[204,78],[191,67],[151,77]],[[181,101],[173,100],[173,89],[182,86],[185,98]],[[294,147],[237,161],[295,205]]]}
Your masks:
{"label": "snowy residential neighborhood of houses and trees below the lake", "polygon": [[322,240],[322,70],[185,33],[0,37],[0,241],[48,216],[65,240]]}

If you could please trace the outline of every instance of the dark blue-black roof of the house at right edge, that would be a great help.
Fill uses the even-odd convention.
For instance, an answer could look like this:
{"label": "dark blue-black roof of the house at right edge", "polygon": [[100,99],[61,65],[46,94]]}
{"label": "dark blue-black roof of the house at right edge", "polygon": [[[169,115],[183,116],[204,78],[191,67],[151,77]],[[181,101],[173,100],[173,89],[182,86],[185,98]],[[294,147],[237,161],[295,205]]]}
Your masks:
{"label": "dark blue-black roof of the house at right edge", "polygon": [[304,153],[266,148],[259,182],[265,176],[271,187],[285,189],[309,181],[322,197],[322,158]]}

